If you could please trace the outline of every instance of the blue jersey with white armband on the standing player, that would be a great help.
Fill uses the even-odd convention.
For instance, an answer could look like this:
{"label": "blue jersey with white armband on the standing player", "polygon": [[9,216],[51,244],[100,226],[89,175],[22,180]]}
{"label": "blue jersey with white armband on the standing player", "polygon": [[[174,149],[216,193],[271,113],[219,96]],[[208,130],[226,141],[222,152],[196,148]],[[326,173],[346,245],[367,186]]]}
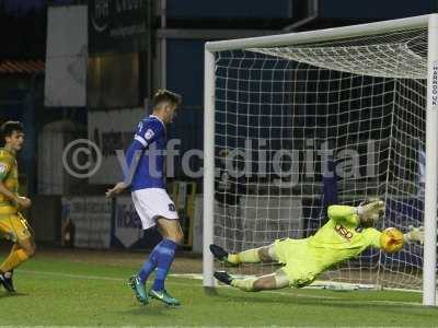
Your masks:
{"label": "blue jersey with white armband on the standing player", "polygon": [[150,115],[138,124],[134,141],[126,152],[128,167],[139,156],[130,180],[132,191],[165,188],[165,127],[158,117]]}

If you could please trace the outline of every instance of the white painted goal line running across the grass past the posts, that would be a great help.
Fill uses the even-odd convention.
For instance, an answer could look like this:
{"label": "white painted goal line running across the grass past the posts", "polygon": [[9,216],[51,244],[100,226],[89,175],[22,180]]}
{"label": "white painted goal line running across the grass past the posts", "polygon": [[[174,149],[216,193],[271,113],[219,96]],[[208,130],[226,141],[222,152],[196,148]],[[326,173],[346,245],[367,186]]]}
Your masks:
{"label": "white painted goal line running across the grass past the posts", "polygon": [[[69,279],[82,279],[82,280],[104,280],[104,281],[117,281],[117,282],[126,282],[126,279],[123,278],[115,278],[115,277],[107,277],[107,276],[93,276],[93,274],[76,274],[76,273],[62,273],[62,272],[53,272],[53,271],[37,271],[37,270],[26,270],[22,269],[19,272],[21,273],[28,273],[28,274],[39,274],[39,276],[50,276],[50,277],[61,277],[61,278],[69,278]],[[184,279],[193,279],[187,277],[186,274],[171,274],[175,278],[184,278]],[[184,282],[174,282],[169,281],[168,284],[172,285],[184,285],[184,286],[196,286],[196,288],[204,288],[201,284],[192,284],[192,283],[184,283]],[[235,289],[229,285],[219,285],[218,288],[227,288],[232,291],[237,291]],[[240,291],[239,291],[240,292]],[[335,303],[360,303],[360,304],[385,304],[385,305],[417,305],[422,306],[420,303],[417,302],[400,302],[400,301],[364,301],[364,300],[351,300],[351,298],[343,298],[336,296],[326,296],[326,295],[311,295],[311,294],[299,294],[299,293],[286,293],[279,291],[264,291],[264,294],[275,294],[281,296],[289,296],[289,297],[303,297],[303,298],[319,298],[319,300],[327,300],[334,301]]]}

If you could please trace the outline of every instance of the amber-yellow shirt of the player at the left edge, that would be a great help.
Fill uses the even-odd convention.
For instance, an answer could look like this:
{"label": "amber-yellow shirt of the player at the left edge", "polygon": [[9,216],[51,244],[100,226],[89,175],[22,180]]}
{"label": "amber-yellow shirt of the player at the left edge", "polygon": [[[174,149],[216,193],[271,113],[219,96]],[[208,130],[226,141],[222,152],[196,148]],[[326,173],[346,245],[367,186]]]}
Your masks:
{"label": "amber-yellow shirt of the player at the left edge", "polygon": [[[19,194],[19,169],[15,155],[0,148],[0,180],[13,194]],[[4,195],[0,194],[0,215],[15,213],[16,206]],[[0,218],[1,219],[1,218]]]}

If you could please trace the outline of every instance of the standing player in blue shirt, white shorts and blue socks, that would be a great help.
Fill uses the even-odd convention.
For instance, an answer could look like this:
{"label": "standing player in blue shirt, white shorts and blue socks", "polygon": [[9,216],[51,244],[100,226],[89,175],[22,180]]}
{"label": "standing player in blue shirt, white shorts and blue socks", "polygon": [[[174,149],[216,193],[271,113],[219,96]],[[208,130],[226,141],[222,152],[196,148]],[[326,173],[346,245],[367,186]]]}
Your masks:
{"label": "standing player in blue shirt, white shorts and blue socks", "polygon": [[[175,204],[165,191],[165,125],[172,122],[181,96],[166,90],[159,90],[152,101],[152,115],[138,124],[132,143],[126,152],[129,173],[125,180],[106,191],[113,197],[130,189],[132,202],[141,219],[142,229],[158,225],[163,239],[152,249],[138,274],[129,279],[138,301],[148,304],[150,297],[168,305],[180,305],[164,289],[164,280],[175,257],[175,249],[183,241]],[[146,281],[157,269],[155,280],[149,290]]]}

